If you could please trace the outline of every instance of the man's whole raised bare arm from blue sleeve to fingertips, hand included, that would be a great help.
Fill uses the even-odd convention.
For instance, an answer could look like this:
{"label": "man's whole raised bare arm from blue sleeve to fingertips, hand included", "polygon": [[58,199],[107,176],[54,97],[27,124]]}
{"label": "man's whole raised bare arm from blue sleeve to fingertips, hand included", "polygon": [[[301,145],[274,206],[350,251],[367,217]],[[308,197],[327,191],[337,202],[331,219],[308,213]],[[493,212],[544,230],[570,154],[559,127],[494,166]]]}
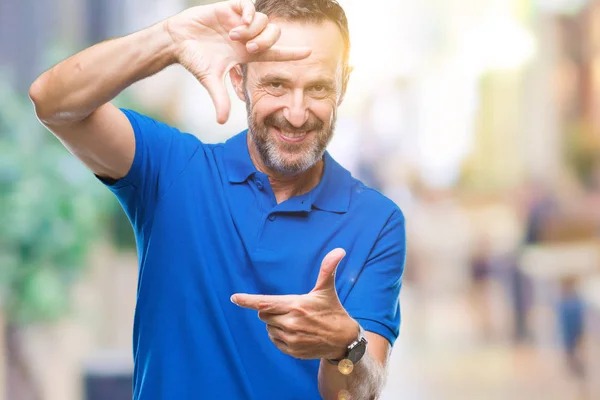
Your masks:
{"label": "man's whole raised bare arm from blue sleeve to fingertips, hand included", "polygon": [[[309,49],[273,46],[279,28],[266,29],[267,24],[250,0],[193,7],[59,63],[32,84],[30,97],[40,121],[74,155],[97,175],[119,179],[132,165],[135,136],[127,118],[109,102],[131,84],[179,63],[209,91],[223,123],[229,112],[224,85],[229,69],[310,54]],[[250,41],[258,50],[247,51]]]}

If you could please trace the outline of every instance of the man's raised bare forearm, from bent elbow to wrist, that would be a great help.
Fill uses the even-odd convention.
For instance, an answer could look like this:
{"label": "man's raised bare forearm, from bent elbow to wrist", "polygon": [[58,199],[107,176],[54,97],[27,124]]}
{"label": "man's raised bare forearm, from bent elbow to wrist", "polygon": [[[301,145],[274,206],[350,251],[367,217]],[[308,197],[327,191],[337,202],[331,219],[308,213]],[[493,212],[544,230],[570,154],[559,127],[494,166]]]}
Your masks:
{"label": "man's raised bare forearm, from bent elbow to wrist", "polygon": [[57,64],[31,86],[44,123],[81,121],[131,84],[175,62],[171,37],[159,23],[92,46]]}

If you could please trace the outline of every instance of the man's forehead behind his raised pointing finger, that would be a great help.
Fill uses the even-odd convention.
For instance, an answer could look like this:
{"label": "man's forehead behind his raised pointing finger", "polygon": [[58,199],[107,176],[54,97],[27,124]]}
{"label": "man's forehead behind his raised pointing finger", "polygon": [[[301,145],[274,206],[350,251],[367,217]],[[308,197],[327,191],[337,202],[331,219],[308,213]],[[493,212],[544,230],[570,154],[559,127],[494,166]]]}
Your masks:
{"label": "man's forehead behind his raised pointing finger", "polygon": [[281,37],[277,46],[307,46],[312,49],[310,56],[298,61],[282,62],[256,62],[251,63],[249,71],[259,75],[273,72],[286,72],[305,75],[335,74],[341,66],[344,40],[339,28],[331,21],[312,22],[290,22],[281,19],[273,19],[281,28]]}

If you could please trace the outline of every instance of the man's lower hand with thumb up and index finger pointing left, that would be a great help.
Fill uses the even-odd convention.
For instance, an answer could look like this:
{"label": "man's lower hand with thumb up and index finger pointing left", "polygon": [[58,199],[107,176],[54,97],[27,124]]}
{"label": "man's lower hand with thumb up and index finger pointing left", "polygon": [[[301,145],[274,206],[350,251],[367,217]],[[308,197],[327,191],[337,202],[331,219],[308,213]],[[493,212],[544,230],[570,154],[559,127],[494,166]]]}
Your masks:
{"label": "man's lower hand with thumb up and index finger pointing left", "polygon": [[359,330],[335,290],[335,271],[345,255],[343,249],[334,249],[325,256],[317,283],[308,294],[234,294],[231,301],[258,311],[269,338],[282,352],[301,359],[341,359]]}

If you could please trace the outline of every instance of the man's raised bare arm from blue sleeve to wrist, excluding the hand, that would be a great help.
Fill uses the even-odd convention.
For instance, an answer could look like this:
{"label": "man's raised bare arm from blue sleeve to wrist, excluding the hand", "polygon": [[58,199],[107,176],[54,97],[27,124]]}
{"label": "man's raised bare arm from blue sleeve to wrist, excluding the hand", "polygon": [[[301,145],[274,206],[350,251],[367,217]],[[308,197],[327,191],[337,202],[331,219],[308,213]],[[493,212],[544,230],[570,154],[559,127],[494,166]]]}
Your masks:
{"label": "man's raised bare arm from blue sleeve to wrist, excluding the hand", "polygon": [[110,40],[61,62],[30,88],[40,121],[95,174],[125,176],[135,140],[127,117],[108,103],[132,83],[175,61],[164,24]]}

